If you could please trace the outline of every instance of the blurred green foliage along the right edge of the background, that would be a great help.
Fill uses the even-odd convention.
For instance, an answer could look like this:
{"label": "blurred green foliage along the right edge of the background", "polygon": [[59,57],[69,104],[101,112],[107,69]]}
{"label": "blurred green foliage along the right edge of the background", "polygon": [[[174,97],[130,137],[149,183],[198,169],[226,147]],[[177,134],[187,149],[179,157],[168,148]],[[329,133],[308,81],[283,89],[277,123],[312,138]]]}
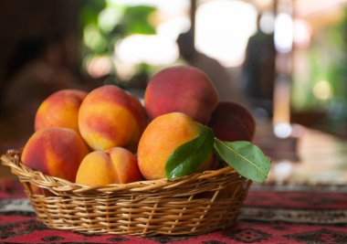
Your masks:
{"label": "blurred green foliage along the right edge of the background", "polygon": [[[346,134],[347,127],[347,8],[340,23],[323,29],[314,37],[308,52],[309,80],[295,80],[294,110],[322,111],[327,115],[323,129]],[[313,88],[320,80],[327,80],[332,88],[331,98],[320,100]],[[296,101],[294,101],[296,100]]]}

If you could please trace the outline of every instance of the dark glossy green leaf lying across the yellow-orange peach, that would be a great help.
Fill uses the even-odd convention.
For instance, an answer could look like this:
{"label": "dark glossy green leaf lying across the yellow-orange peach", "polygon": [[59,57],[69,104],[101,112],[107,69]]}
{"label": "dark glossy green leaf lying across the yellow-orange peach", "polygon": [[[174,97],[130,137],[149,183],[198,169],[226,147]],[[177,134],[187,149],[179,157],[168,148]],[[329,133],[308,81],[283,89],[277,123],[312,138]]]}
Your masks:
{"label": "dark glossy green leaf lying across the yellow-orange peach", "polygon": [[208,154],[212,152],[213,145],[212,129],[202,126],[200,134],[195,139],[180,145],[170,155],[165,164],[166,177],[171,180],[195,173],[199,165],[203,164]]}

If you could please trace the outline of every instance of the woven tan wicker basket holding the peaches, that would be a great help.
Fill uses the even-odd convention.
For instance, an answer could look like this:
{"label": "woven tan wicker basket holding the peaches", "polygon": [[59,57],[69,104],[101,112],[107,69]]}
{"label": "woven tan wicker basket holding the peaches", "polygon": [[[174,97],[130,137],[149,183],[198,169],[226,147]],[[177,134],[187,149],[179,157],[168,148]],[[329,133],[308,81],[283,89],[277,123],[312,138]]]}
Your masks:
{"label": "woven tan wicker basket holding the peaches", "polygon": [[230,167],[184,176],[108,186],[80,186],[1,157],[23,185],[37,217],[49,228],[120,235],[196,235],[237,221],[250,180]]}

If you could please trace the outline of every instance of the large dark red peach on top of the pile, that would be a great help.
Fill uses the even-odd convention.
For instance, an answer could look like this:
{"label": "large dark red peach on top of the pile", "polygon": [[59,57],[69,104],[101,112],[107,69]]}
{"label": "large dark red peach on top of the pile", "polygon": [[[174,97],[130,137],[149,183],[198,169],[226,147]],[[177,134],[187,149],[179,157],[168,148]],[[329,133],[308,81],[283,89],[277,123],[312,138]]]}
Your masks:
{"label": "large dark red peach on top of the pile", "polygon": [[216,88],[200,70],[189,66],[162,69],[149,81],[144,109],[150,120],[164,113],[181,111],[207,124],[218,103]]}

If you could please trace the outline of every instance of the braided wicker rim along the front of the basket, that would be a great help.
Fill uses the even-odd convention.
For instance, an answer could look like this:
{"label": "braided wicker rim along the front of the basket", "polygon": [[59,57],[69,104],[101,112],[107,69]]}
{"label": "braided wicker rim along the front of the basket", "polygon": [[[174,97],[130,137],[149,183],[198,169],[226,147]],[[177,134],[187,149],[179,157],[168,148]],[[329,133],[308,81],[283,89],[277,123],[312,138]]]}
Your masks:
{"label": "braided wicker rim along the front of the basket", "polygon": [[[31,184],[41,186],[44,188],[54,188],[59,192],[74,192],[74,193],[95,193],[95,192],[114,192],[114,191],[131,191],[131,192],[147,192],[156,188],[172,188],[175,186],[183,185],[186,182],[195,180],[208,179],[216,175],[235,175],[238,173],[226,165],[225,167],[216,170],[206,170],[202,173],[194,173],[192,175],[185,175],[182,177],[167,180],[166,178],[157,180],[142,180],[127,184],[110,184],[103,186],[85,186],[77,183],[70,182],[66,179],[59,177],[45,175],[40,171],[34,170],[20,161],[21,151],[17,149],[7,150],[5,154],[1,155],[1,163],[11,168],[11,172],[18,176],[22,182],[30,182]],[[238,175],[240,178],[244,178]]]}

